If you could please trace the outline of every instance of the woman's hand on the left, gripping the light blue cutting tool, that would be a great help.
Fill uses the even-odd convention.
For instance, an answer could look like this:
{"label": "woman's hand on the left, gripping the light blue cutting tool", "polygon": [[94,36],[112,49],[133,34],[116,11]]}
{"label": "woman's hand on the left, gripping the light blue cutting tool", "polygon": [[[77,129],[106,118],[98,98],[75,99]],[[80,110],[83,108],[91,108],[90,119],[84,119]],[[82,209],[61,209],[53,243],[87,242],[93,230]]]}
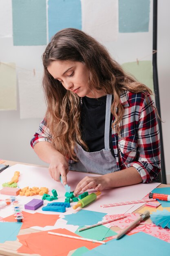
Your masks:
{"label": "woman's hand on the left, gripping the light blue cutting tool", "polygon": [[49,173],[51,177],[60,182],[60,175],[62,177],[63,185],[67,184],[67,173],[68,173],[68,159],[61,153],[53,155],[51,157],[49,165]]}

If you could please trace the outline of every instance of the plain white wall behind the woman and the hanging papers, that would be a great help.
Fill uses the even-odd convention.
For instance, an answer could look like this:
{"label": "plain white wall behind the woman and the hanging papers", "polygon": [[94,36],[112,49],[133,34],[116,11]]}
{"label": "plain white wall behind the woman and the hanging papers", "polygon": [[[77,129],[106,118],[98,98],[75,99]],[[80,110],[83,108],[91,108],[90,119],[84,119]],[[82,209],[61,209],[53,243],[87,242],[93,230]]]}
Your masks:
{"label": "plain white wall behind the woman and the hanging papers", "polygon": [[[110,54],[121,64],[139,60],[152,53],[152,1],[149,33],[123,33],[118,40],[105,44]],[[168,165],[170,145],[170,1],[158,0],[158,76],[163,121],[163,144],[167,179],[170,182]],[[0,61],[15,62],[18,67],[28,70],[42,70],[41,55],[45,46],[13,46],[11,38],[0,38]],[[151,60],[148,56],[143,60]],[[18,71],[20,71],[18,69]],[[168,93],[169,92],[169,93]],[[29,111],[29,110],[28,110]],[[31,164],[43,164],[33,152],[29,142],[38,129],[41,119],[20,119],[19,98],[17,111],[0,111],[0,158]]]}

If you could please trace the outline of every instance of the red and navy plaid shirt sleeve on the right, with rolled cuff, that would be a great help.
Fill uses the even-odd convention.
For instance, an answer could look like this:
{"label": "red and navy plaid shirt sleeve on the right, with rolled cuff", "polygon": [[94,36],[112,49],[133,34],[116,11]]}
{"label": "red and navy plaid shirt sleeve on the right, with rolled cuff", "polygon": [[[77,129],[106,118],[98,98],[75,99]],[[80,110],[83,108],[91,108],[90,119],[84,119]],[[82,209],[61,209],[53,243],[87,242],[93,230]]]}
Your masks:
{"label": "red and navy plaid shirt sleeve on the right, with rolled cuff", "polygon": [[[160,172],[160,141],[157,115],[153,100],[147,95],[143,101],[138,123],[137,154],[135,161],[128,164],[133,166],[141,175],[143,182],[155,180]],[[137,161],[136,161],[137,160]]]}

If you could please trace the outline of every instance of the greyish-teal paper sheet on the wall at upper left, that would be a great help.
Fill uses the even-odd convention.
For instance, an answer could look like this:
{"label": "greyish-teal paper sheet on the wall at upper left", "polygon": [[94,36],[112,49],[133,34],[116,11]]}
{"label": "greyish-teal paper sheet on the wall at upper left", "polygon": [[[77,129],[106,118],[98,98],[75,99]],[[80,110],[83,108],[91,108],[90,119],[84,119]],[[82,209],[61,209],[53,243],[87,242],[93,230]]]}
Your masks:
{"label": "greyish-teal paper sheet on the wall at upper left", "polygon": [[46,45],[46,0],[12,0],[13,45]]}

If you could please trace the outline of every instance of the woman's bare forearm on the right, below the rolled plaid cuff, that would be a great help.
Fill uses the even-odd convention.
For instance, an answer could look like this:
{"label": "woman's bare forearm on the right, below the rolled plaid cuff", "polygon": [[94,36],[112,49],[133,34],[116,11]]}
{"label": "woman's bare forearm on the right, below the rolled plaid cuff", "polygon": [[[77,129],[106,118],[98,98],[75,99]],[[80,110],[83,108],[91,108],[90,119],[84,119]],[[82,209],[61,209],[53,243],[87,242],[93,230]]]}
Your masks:
{"label": "woman's bare forearm on the right, below the rolled plaid cuff", "polygon": [[104,175],[108,187],[117,188],[120,186],[129,186],[142,182],[141,175],[134,167],[129,167],[114,173]]}

